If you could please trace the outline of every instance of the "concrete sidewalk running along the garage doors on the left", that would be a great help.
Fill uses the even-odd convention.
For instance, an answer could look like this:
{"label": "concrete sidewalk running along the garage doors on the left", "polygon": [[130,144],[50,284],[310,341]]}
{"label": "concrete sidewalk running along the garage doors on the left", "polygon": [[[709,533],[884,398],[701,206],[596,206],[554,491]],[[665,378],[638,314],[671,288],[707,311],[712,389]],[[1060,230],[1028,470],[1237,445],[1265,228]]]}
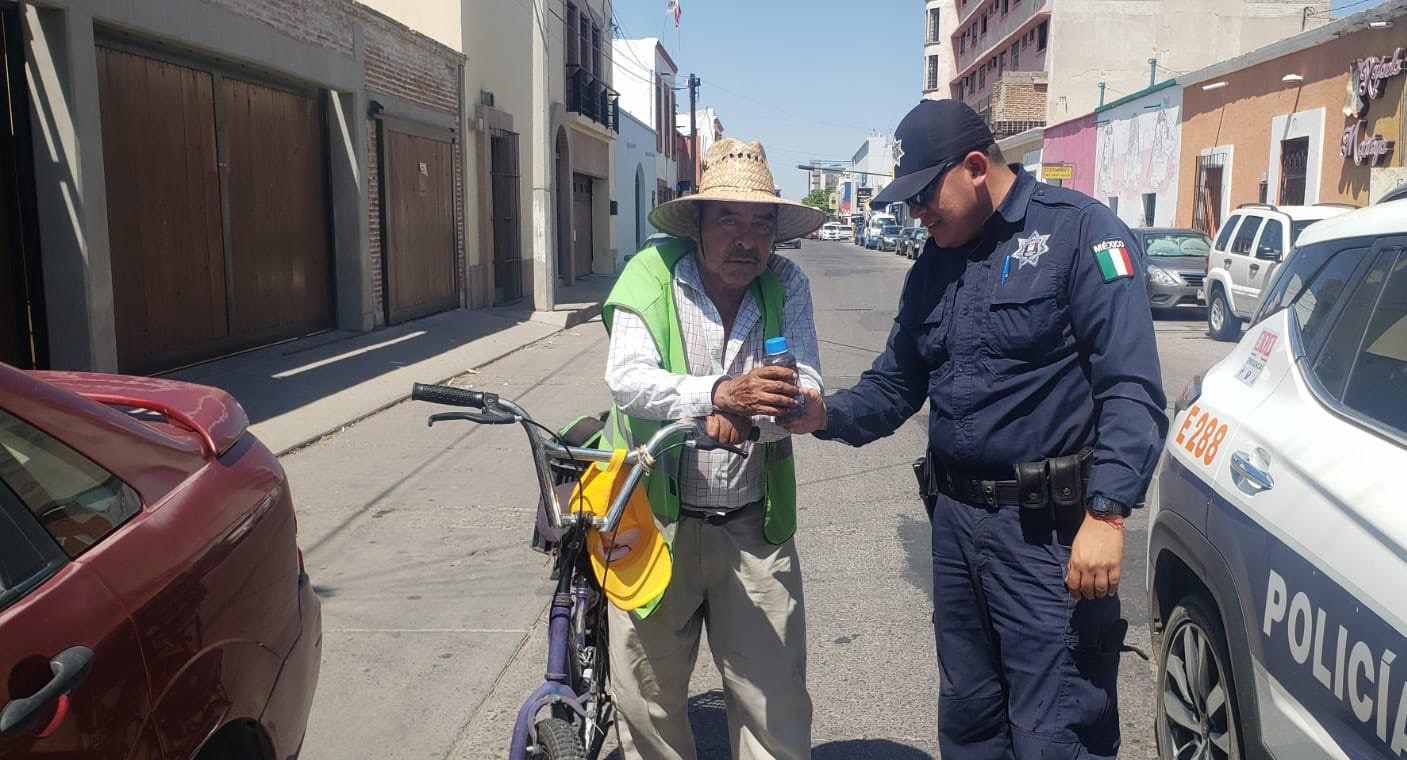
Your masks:
{"label": "concrete sidewalk running along the garage doors on the left", "polygon": [[167,377],[224,388],[249,429],[277,455],[595,318],[615,283],[591,276],[557,291],[554,311],[453,310],[371,332],[329,331],[176,370]]}

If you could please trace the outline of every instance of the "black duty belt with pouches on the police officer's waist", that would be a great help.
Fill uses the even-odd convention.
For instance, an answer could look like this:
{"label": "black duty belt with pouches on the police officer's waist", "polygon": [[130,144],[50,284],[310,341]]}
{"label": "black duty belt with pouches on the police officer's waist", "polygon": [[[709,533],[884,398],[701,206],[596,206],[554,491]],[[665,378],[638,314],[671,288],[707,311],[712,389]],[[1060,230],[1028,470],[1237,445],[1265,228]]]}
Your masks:
{"label": "black duty belt with pouches on the police officer's waist", "polygon": [[933,467],[933,490],[968,504],[988,507],[1083,507],[1090,450],[1017,464],[1014,480],[982,480]]}

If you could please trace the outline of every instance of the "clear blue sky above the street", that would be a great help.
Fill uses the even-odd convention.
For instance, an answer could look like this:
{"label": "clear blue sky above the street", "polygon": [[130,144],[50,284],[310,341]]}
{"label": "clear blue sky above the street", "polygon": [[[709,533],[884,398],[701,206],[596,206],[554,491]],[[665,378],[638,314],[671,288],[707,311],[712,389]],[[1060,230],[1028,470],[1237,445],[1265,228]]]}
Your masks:
{"label": "clear blue sky above the street", "polygon": [[[1334,0],[1358,13],[1383,0]],[[920,0],[681,0],[680,30],[666,0],[615,0],[632,38],[660,37],[704,80],[699,106],[730,137],[760,139],[782,193],[799,198],[810,159],[850,159],[871,134],[892,134],[922,97]],[[678,93],[680,111],[688,91]]]}

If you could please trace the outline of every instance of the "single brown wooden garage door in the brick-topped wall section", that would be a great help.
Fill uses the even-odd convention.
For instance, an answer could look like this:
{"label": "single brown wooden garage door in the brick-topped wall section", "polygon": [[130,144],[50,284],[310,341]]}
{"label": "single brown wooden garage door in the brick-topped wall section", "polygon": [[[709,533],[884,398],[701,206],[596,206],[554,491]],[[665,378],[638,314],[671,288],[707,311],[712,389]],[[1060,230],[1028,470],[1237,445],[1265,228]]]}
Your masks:
{"label": "single brown wooden garage door in the brick-topped wall section", "polygon": [[453,144],[383,127],[390,324],[459,305]]}

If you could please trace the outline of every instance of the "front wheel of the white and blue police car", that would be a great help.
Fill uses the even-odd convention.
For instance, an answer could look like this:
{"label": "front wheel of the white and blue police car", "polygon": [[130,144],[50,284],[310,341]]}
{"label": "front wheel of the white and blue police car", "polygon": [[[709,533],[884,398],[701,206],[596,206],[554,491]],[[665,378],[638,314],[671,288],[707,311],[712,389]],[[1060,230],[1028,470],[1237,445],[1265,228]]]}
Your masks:
{"label": "front wheel of the white and blue police car", "polygon": [[1202,597],[1178,602],[1158,659],[1158,756],[1241,760],[1235,683],[1221,621]]}

